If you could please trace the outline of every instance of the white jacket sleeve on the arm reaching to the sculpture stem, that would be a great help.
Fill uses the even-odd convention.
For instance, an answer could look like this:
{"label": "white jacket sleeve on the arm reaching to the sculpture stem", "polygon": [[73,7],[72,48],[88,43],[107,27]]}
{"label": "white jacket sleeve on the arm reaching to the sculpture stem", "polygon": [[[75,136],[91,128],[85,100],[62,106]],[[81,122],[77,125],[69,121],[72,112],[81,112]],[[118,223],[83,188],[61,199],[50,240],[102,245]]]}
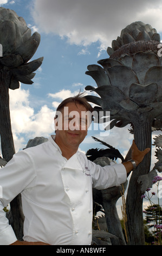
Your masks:
{"label": "white jacket sleeve on the arm reaching to the sculpture stem", "polygon": [[101,167],[99,164],[87,160],[87,164],[92,176],[92,185],[98,190],[120,186],[127,179],[126,168],[122,163],[112,162],[110,166]]}

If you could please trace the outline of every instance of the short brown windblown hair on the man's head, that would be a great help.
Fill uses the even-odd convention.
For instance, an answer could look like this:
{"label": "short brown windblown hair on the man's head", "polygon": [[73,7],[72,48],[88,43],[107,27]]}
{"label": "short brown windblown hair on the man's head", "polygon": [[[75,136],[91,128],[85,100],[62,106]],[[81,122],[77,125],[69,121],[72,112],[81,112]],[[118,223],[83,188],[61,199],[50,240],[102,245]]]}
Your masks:
{"label": "short brown windblown hair on the man's head", "polygon": [[87,109],[87,111],[90,111],[91,113],[94,111],[93,107],[88,103],[88,101],[86,100],[86,98],[83,96],[85,93],[79,93],[74,97],[68,97],[67,99],[63,100],[60,105],[57,107],[56,112],[57,111],[62,111],[63,107],[65,107],[69,102],[74,102],[75,105],[81,104],[83,106],[85,106],[85,108]]}

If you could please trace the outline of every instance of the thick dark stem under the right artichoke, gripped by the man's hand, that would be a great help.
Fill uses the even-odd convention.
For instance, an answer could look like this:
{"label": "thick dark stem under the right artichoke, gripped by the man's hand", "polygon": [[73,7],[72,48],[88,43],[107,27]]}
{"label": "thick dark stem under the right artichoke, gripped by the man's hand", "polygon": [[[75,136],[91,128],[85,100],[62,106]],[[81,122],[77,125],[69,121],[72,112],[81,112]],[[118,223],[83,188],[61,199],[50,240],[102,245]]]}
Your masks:
{"label": "thick dark stem under the right artichoke, gripped by the man's hand", "polygon": [[[140,150],[151,148],[151,120],[142,115],[134,121],[134,140]],[[144,157],[137,169],[132,173],[129,181],[126,210],[128,219],[128,235],[130,245],[145,245],[144,223],[142,212],[141,185],[138,183],[140,175],[150,172],[151,151]]]}

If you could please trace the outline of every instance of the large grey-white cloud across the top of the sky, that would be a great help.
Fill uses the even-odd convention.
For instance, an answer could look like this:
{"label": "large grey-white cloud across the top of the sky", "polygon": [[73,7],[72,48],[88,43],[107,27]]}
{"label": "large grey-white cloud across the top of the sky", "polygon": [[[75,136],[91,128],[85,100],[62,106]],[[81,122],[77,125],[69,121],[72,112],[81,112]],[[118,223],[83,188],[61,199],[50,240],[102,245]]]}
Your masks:
{"label": "large grey-white cloud across the top of the sky", "polygon": [[135,21],[162,32],[161,10],[160,0],[36,0],[33,16],[41,32],[60,35],[69,44],[99,41],[102,50]]}

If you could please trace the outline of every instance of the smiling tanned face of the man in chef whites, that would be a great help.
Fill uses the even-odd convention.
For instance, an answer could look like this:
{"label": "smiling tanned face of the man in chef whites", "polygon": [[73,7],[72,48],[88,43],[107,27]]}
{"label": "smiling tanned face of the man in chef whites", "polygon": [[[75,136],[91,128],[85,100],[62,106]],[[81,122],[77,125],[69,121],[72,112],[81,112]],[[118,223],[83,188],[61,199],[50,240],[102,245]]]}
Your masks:
{"label": "smiling tanned face of the man in chef whites", "polygon": [[79,103],[75,105],[74,102],[67,103],[60,118],[55,119],[57,142],[68,147],[79,147],[87,135],[89,126],[90,119],[87,118],[86,113],[85,106]]}

